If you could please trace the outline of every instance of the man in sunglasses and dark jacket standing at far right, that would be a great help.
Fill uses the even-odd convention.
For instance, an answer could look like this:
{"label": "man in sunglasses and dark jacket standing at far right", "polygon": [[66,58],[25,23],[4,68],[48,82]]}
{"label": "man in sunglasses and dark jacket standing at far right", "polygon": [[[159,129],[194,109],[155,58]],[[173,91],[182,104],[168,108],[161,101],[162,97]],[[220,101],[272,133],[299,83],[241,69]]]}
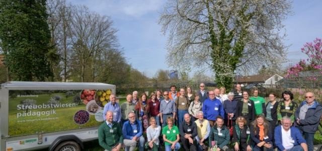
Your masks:
{"label": "man in sunglasses and dark jacket standing at far right", "polygon": [[294,113],[294,125],[302,132],[308,150],[313,151],[314,133],[318,128],[322,114],[322,106],[315,100],[312,92],[305,93],[305,100]]}

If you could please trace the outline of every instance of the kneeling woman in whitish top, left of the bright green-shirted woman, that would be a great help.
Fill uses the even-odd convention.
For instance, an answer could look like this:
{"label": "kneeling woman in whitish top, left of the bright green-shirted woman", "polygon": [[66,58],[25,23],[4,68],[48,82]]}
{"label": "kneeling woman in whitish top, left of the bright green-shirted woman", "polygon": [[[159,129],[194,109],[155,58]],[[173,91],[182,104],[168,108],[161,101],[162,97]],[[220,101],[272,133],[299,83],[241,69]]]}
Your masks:
{"label": "kneeling woman in whitish top, left of the bright green-shirted woman", "polygon": [[161,126],[156,125],[154,117],[150,117],[150,126],[146,129],[147,142],[145,143],[145,149],[152,149],[152,151],[157,151],[159,147],[159,135],[161,131]]}

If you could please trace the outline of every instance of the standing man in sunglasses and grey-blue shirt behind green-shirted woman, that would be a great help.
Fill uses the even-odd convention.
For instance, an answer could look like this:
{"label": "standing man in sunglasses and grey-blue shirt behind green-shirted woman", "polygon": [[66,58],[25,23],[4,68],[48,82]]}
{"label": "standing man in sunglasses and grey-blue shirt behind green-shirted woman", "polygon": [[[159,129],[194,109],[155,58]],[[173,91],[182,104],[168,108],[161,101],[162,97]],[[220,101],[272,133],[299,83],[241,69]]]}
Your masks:
{"label": "standing man in sunglasses and grey-blue shirt behind green-shirted woman", "polygon": [[173,118],[176,117],[176,105],[175,101],[171,101],[169,99],[169,93],[168,91],[165,91],[163,93],[163,99],[160,103],[160,122],[162,123],[162,127],[167,125],[167,118],[172,116]]}

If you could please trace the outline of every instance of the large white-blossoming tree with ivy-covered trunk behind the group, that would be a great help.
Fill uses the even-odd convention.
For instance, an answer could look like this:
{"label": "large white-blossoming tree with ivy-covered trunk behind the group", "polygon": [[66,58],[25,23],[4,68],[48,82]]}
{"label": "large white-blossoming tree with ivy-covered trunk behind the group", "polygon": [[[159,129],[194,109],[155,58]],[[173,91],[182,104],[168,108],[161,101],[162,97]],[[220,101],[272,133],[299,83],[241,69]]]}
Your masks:
{"label": "large white-blossoming tree with ivy-covered trunk behind the group", "polygon": [[159,20],[169,34],[169,65],[208,66],[229,90],[236,69],[284,60],[280,30],[289,10],[284,0],[169,0]]}

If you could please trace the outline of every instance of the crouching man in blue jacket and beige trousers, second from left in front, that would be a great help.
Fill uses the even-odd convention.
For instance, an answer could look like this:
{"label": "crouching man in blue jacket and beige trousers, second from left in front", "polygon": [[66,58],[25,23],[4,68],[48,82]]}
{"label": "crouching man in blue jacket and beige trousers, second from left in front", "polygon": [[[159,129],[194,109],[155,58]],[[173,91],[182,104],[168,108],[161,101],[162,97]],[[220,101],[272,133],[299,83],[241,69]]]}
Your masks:
{"label": "crouching man in blue jacket and beige trousers, second from left in front", "polygon": [[145,139],[142,136],[142,123],[139,120],[135,119],[135,113],[130,112],[128,114],[129,120],[126,121],[123,125],[123,143],[125,145],[125,151],[134,150],[136,143],[139,142],[139,151],[143,151]]}

